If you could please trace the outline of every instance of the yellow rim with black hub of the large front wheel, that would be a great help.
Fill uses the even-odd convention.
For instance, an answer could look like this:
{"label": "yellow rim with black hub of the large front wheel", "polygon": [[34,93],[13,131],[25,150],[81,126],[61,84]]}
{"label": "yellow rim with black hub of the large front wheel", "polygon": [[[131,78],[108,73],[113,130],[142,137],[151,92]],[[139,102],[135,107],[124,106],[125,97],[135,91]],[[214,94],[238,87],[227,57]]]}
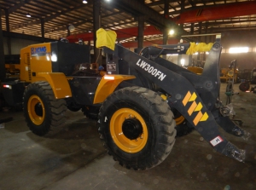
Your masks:
{"label": "yellow rim with black hub of the large front wheel", "polygon": [[[129,119],[130,122],[127,122]],[[135,120],[137,121],[135,122]],[[132,123],[130,126],[137,126],[137,128],[135,127],[135,135],[137,135],[137,138],[135,135],[127,135],[127,131],[125,135],[123,129],[127,129],[127,126],[129,126],[127,123]],[[142,130],[142,133],[138,132],[140,130]],[[148,141],[147,124],[138,112],[130,108],[121,108],[113,113],[110,120],[110,133],[115,144],[126,153],[138,153],[145,147]],[[132,137],[129,139],[127,136]]]}

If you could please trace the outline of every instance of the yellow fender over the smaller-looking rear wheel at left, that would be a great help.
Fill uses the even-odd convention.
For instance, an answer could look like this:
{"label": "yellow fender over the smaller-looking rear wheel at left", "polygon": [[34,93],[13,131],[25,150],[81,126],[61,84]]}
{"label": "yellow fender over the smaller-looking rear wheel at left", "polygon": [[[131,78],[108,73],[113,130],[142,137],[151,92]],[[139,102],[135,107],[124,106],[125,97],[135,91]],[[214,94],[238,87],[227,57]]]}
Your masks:
{"label": "yellow fender over the smaller-looking rear wheel at left", "polygon": [[38,78],[44,78],[55,94],[55,99],[72,97],[72,92],[67,78],[62,72],[38,72]]}

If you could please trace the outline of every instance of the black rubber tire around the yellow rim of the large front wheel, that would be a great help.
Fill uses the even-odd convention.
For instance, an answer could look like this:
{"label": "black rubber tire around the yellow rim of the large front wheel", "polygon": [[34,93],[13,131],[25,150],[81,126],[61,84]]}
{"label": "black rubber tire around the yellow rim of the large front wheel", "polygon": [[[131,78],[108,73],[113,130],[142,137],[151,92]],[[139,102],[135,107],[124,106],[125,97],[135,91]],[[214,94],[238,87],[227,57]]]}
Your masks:
{"label": "black rubber tire around the yellow rim of the large front wheel", "polygon": [[[136,111],[145,121],[148,138],[137,153],[127,153],[113,141],[110,132],[111,118],[122,108]],[[166,159],[175,142],[176,123],[166,101],[154,91],[137,86],[119,89],[109,95],[102,104],[97,125],[108,153],[127,169],[153,168]]]}

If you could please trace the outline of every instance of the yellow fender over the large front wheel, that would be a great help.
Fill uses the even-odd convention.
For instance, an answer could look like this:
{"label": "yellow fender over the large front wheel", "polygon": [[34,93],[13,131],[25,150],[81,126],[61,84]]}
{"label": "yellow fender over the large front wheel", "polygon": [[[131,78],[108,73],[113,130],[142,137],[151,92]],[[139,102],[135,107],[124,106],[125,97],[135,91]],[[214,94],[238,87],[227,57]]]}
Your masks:
{"label": "yellow fender over the large front wheel", "polygon": [[113,93],[113,90],[124,80],[130,80],[136,78],[133,75],[105,75],[102,77],[94,96],[93,103],[102,103]]}

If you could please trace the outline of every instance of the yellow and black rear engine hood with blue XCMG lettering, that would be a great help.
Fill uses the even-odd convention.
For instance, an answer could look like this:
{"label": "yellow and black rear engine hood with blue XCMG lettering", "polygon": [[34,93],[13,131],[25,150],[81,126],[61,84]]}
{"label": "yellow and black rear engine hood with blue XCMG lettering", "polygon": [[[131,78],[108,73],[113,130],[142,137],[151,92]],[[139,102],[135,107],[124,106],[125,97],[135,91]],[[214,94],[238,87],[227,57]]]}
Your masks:
{"label": "yellow and black rear engine hood with blue XCMG lettering", "polygon": [[90,63],[90,46],[61,41],[33,44],[20,50],[20,80],[38,81],[38,72],[70,76],[80,63]]}

